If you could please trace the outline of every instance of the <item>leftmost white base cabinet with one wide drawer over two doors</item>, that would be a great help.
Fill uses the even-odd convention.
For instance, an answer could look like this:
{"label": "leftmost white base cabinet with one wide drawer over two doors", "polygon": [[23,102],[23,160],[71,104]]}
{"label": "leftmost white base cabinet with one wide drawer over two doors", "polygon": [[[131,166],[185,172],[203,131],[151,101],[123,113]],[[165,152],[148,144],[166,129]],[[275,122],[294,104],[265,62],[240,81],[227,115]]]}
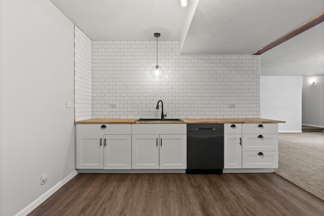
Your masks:
{"label": "leftmost white base cabinet with one wide drawer over two doors", "polygon": [[131,169],[131,137],[130,124],[77,125],[76,168]]}

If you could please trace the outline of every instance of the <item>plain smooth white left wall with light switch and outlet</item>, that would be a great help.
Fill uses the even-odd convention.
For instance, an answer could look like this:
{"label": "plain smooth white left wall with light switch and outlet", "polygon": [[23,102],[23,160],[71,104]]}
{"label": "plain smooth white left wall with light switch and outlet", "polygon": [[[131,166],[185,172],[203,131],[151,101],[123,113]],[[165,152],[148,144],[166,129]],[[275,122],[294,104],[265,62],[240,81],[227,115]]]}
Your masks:
{"label": "plain smooth white left wall with light switch and outlet", "polygon": [[66,108],[74,101],[74,25],[50,1],[1,0],[0,28],[0,215],[7,216],[75,173],[74,109]]}

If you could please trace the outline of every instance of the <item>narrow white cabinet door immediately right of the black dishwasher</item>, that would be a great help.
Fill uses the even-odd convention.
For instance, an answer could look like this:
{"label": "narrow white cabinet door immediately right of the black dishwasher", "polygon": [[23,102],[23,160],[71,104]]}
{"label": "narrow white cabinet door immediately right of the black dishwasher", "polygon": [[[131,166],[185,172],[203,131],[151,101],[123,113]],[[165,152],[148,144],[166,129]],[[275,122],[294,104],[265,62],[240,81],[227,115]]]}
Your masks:
{"label": "narrow white cabinet door immediately right of the black dishwasher", "polygon": [[224,168],[242,168],[241,134],[224,134]]}

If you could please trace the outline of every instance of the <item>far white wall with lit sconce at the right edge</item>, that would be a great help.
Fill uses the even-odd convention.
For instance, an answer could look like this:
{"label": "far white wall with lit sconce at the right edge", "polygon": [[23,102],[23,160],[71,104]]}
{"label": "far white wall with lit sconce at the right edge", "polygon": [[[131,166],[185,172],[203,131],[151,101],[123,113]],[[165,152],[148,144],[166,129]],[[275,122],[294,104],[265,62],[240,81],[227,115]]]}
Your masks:
{"label": "far white wall with lit sconce at the right edge", "polygon": [[302,123],[324,127],[324,76],[303,77]]}

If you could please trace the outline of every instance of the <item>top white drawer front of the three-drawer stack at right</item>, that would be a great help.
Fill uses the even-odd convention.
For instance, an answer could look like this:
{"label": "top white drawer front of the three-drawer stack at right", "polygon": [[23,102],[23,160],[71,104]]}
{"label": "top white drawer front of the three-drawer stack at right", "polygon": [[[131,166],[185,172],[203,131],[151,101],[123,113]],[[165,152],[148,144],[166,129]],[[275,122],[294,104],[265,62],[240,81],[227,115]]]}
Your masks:
{"label": "top white drawer front of the three-drawer stack at right", "polygon": [[277,134],[278,124],[277,123],[253,123],[253,124],[243,124],[242,134]]}

